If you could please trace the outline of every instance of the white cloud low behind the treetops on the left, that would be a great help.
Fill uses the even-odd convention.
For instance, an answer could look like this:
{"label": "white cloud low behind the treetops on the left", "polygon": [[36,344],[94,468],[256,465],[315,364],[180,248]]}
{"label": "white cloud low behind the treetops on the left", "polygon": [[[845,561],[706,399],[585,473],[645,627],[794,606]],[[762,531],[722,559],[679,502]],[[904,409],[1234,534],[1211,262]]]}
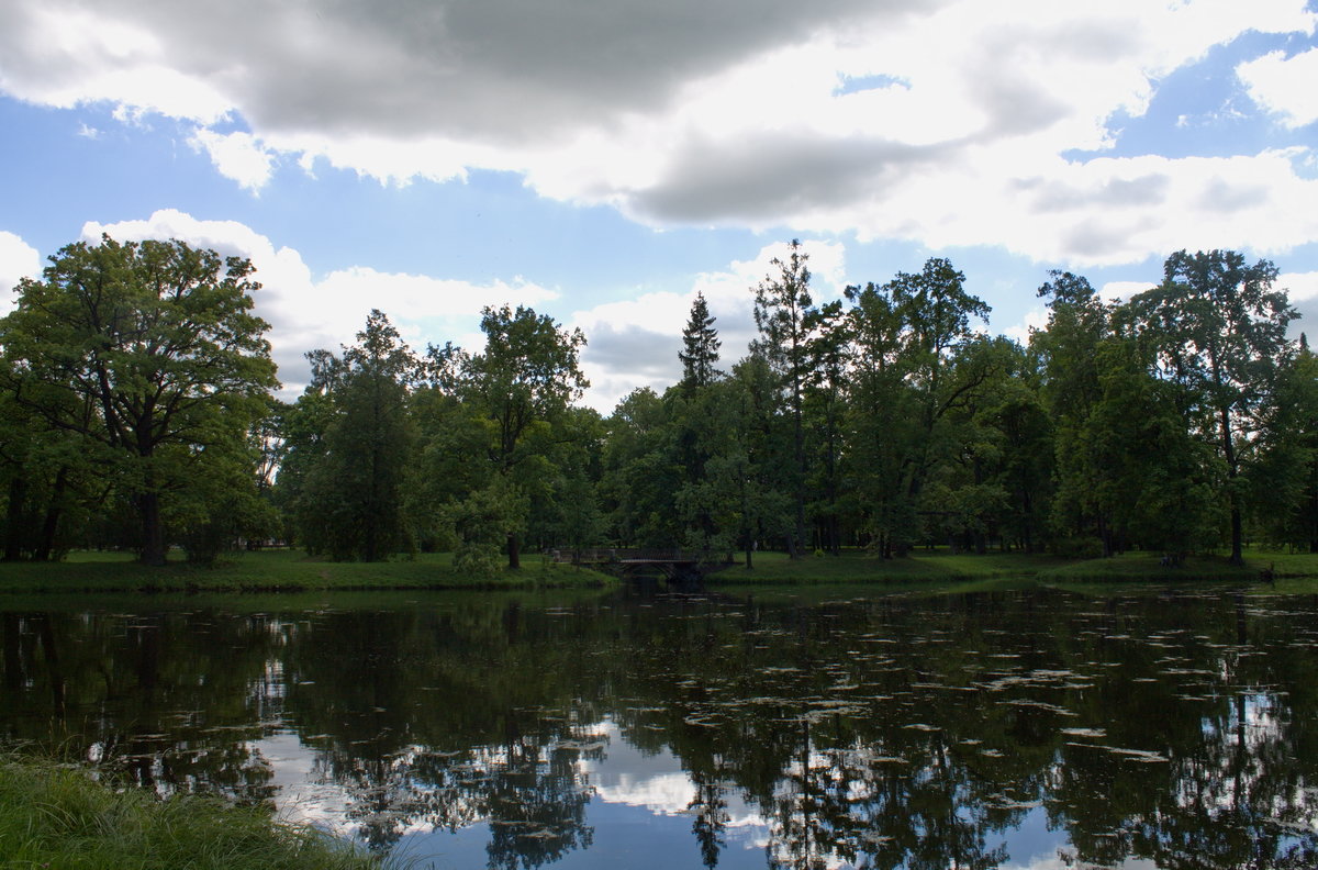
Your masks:
{"label": "white cloud low behind the treetops on the left", "polygon": [[[471,347],[484,306],[539,304],[558,298],[558,291],[522,278],[473,285],[369,266],[314,276],[299,252],[275,248],[250,227],[231,220],[198,220],[174,210],[157,211],[146,220],[83,225],[84,240],[96,241],[101,233],[120,241],[178,239],[224,256],[249,258],[261,282],[256,311],[270,323],[268,337],[290,393],[307,381],[302,355],[314,348],[336,351],[351,344],[372,308],[389,315],[405,340],[420,351],[427,343],[455,339]],[[3,237],[0,233],[0,243]]]}

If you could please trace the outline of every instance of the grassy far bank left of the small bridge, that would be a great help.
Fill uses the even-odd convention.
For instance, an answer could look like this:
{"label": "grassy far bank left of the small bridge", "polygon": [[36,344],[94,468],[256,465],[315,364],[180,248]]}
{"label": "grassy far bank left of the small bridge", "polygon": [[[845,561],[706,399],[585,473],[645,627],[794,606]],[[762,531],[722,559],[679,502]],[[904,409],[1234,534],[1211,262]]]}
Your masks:
{"label": "grassy far bank left of the small bridge", "polygon": [[307,592],[319,589],[534,589],[612,583],[593,571],[526,556],[519,571],[473,577],[448,554],[327,562],[302,551],[235,554],[215,566],[140,564],[127,554],[74,552],[58,563],[0,563],[0,592]]}

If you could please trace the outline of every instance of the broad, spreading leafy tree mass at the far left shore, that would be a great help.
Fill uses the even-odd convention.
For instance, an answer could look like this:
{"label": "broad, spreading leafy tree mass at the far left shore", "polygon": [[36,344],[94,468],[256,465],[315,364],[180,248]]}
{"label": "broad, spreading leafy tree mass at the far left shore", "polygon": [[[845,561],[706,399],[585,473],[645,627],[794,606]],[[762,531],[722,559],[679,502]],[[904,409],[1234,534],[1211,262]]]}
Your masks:
{"label": "broad, spreading leafy tree mass at the far left shore", "polygon": [[206,559],[262,525],[249,435],[277,381],[252,274],[183,243],[105,237],[18,283],[0,320],[7,559],[78,538]]}

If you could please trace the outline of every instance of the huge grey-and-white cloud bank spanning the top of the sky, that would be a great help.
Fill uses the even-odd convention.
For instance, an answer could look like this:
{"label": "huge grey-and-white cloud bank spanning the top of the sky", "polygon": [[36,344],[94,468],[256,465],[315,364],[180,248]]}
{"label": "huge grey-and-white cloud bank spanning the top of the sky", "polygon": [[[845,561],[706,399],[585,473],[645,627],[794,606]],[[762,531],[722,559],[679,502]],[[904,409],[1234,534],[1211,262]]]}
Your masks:
{"label": "huge grey-and-white cloud bank spanning the top of the sky", "polygon": [[[731,0],[735,3],[735,0]],[[1238,36],[1307,33],[1305,0],[257,0],[0,9],[0,88],[188,119],[257,188],[272,156],[389,183],[525,174],[655,225],[1004,245],[1078,266],[1318,239],[1311,150],[1068,160],[1111,146],[1159,82]],[[1313,53],[1242,66],[1311,120]],[[879,76],[879,78],[875,78]],[[850,91],[844,82],[876,80]],[[241,117],[252,134],[210,129]]]}

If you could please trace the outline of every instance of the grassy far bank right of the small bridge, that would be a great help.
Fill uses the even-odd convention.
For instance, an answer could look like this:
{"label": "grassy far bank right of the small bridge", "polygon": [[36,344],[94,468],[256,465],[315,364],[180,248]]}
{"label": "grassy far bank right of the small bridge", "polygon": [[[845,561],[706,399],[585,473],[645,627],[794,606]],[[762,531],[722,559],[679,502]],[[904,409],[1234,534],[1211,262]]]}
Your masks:
{"label": "grassy far bank right of the small bridge", "polygon": [[1277,581],[1318,577],[1318,555],[1253,551],[1246,566],[1223,556],[1190,556],[1181,566],[1162,564],[1161,554],[1132,552],[1110,559],[1062,559],[1020,552],[953,554],[946,548],[915,551],[902,559],[878,559],[855,551],[841,556],[808,556],[792,562],[786,554],[758,552],[754,568],[741,564],[710,576],[714,585],[845,584],[911,581],[954,583],[999,577],[1033,577],[1041,583],[1128,583],[1239,580],[1271,576]]}

